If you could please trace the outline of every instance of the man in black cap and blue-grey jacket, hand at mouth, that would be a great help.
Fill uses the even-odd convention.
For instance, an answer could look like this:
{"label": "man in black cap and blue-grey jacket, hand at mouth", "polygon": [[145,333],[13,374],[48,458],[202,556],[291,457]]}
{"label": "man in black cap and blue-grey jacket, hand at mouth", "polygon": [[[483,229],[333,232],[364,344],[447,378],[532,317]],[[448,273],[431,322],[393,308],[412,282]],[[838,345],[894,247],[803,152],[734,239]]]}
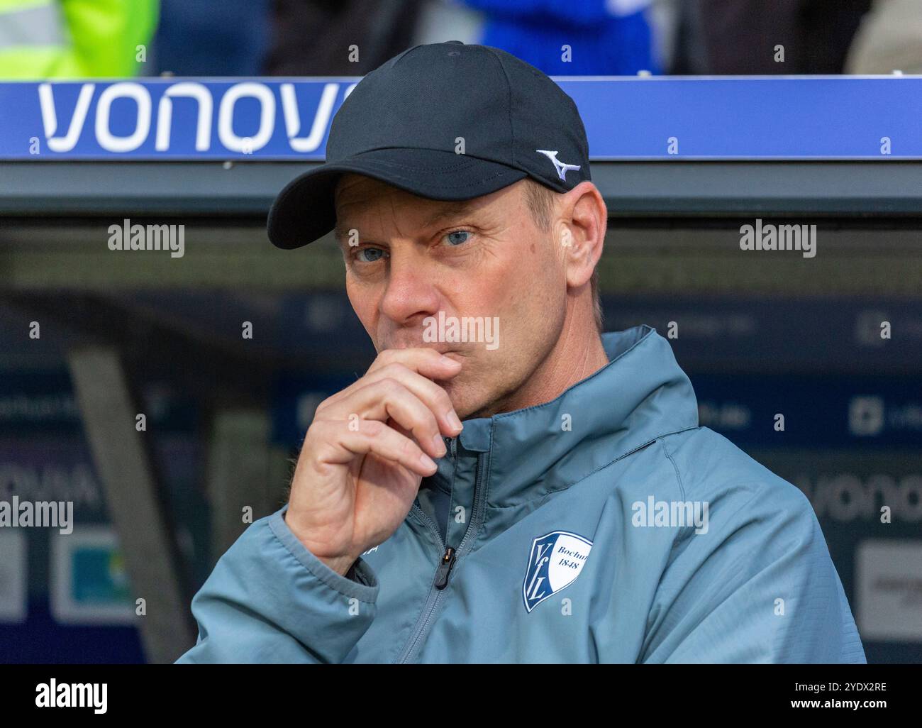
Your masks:
{"label": "man in black cap and blue-grey jacket, hand at mouth", "polygon": [[556,84],[417,46],[326,154],[269,237],[335,231],[378,356],[195,595],[179,662],[864,662],[807,498],[698,426],[655,330],[600,334],[607,211]]}

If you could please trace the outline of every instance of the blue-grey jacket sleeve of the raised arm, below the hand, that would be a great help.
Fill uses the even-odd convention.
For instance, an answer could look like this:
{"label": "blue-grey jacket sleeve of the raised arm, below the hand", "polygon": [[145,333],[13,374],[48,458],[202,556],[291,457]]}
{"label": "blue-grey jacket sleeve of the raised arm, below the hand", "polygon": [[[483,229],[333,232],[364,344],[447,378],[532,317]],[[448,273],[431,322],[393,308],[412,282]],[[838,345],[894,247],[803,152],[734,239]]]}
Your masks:
{"label": "blue-grey jacket sleeve of the raised arm, below the hand", "polygon": [[254,521],[192,600],[195,647],[176,661],[343,662],[372,624],[378,580],[359,558],[347,579],[292,533],[288,506]]}

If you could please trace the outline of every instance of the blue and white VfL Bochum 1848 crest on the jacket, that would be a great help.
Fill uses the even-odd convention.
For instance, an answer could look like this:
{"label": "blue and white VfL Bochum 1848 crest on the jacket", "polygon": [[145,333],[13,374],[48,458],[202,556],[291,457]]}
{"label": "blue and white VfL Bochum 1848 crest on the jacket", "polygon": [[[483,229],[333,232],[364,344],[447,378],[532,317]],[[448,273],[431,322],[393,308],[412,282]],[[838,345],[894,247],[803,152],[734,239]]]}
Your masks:
{"label": "blue and white VfL Bochum 1848 crest on the jacket", "polygon": [[550,531],[535,539],[522,584],[526,611],[572,584],[591,549],[591,541],[570,531]]}

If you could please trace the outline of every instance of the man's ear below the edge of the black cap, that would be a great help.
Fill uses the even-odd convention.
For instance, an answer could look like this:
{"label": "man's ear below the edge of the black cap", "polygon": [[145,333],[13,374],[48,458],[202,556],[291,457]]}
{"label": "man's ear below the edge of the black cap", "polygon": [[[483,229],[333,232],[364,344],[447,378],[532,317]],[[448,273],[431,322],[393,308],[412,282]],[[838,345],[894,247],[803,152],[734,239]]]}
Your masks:
{"label": "man's ear below the edge of the black cap", "polygon": [[564,193],[560,202],[557,236],[567,285],[579,288],[592,278],[602,256],[609,211],[597,186],[588,181]]}

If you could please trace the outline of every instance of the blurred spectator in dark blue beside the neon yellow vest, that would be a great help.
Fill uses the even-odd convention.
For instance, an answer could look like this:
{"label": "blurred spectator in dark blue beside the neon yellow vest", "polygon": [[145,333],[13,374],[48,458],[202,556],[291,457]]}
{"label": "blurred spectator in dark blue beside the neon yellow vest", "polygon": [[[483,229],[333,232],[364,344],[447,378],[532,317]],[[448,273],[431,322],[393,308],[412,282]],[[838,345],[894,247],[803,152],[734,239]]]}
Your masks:
{"label": "blurred spectator in dark blue beside the neon yellow vest", "polygon": [[[270,0],[161,0],[155,73],[259,76],[268,49]],[[301,37],[311,45],[313,38]]]}

